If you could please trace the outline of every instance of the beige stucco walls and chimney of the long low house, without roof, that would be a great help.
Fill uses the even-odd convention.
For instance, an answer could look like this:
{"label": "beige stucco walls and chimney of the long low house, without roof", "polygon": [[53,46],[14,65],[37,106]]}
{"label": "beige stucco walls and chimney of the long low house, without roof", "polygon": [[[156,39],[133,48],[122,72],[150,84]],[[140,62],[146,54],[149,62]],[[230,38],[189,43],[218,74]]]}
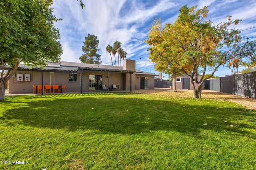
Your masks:
{"label": "beige stucco walls and chimney of the long low house, without roof", "polygon": [[[135,71],[135,61],[126,60],[124,62],[124,70]],[[17,81],[17,74],[30,74],[30,81]],[[69,82],[69,72],[43,72],[43,85],[60,85],[66,84],[66,92],[81,92],[80,77],[81,73],[77,74],[76,82]],[[135,90],[140,89],[140,76],[149,77],[149,89],[154,89],[154,75],[136,74],[135,72],[108,72],[107,71],[84,71],[82,72],[82,92],[89,92],[89,75],[102,75],[102,84],[112,87],[113,84],[119,85],[119,89],[113,90]],[[131,82],[132,77],[132,82]],[[139,78],[137,78],[139,77]],[[16,77],[9,80],[9,93],[31,94],[33,86],[42,84],[42,72],[40,71],[17,71]],[[131,89],[132,87],[132,89]]]}

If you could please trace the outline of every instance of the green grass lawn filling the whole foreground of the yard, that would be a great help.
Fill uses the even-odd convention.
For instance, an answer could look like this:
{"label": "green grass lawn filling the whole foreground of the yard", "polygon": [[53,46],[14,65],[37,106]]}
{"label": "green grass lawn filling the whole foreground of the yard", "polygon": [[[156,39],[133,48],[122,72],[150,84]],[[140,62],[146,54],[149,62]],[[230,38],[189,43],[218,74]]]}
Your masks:
{"label": "green grass lawn filling the whole foreground of the yard", "polygon": [[6,96],[0,108],[0,169],[256,167],[256,111],[224,100],[58,94]]}

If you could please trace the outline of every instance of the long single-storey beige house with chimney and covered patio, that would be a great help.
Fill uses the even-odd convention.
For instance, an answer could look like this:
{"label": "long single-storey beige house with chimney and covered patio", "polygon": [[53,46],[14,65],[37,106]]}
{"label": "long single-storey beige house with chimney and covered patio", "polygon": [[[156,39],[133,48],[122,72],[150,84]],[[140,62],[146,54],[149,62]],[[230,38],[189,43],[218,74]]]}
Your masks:
{"label": "long single-storey beige house with chimney and covered patio", "polygon": [[20,64],[16,74],[9,80],[9,93],[31,94],[32,85],[66,85],[66,92],[74,93],[154,89],[154,76],[157,75],[137,70],[135,61],[128,59],[124,60],[123,66],[61,61],[47,63],[44,68],[29,69]]}

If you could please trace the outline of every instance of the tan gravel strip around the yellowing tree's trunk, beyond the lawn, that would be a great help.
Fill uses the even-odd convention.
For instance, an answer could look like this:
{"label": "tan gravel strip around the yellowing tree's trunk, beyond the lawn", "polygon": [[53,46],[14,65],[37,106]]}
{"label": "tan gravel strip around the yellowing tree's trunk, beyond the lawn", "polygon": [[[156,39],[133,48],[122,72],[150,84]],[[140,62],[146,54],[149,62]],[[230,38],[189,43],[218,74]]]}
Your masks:
{"label": "tan gravel strip around the yellowing tree's trunk, beyond the lawn", "polygon": [[[159,93],[161,95],[178,96],[178,97],[184,97],[184,98],[194,97],[193,90],[178,90],[177,93],[174,93],[170,88],[155,88],[154,90],[133,90],[132,92],[144,93],[144,94]],[[215,92],[212,90],[203,90],[201,94],[201,98],[229,100],[231,102],[236,102],[237,104],[241,104],[247,107],[248,109],[256,109],[255,99],[236,96],[233,94]]]}

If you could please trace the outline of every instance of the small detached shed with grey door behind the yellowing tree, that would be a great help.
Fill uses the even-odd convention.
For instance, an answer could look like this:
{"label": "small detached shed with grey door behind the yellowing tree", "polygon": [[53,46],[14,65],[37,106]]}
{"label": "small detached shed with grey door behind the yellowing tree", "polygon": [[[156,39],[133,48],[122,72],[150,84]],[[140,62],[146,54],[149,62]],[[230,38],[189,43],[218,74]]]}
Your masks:
{"label": "small detached shed with grey door behind the yellowing tree", "polygon": [[[193,80],[195,79],[195,77],[193,78]],[[200,76],[198,76],[198,81],[200,80]],[[195,87],[197,88],[197,84],[195,83]],[[190,76],[186,75],[186,74],[182,74],[182,76],[177,76],[176,77],[176,89],[177,90],[182,90],[182,89],[186,89],[186,90],[193,90],[193,86],[192,83],[190,81]]]}

